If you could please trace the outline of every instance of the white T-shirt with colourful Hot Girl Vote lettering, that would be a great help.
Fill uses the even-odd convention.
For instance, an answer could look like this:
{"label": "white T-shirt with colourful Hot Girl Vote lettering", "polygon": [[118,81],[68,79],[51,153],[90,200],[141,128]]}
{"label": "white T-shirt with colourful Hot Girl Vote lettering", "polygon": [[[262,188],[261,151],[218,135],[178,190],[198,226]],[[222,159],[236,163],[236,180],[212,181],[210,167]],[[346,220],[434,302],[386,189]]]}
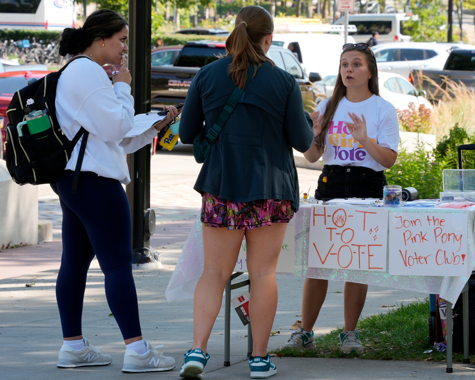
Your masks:
{"label": "white T-shirt with colourful Hot Girl Vote lettering", "polygon": [[[325,99],[318,104],[316,110],[321,115],[325,112],[329,101],[330,99]],[[354,112],[360,118],[361,114],[364,115],[367,135],[371,140],[380,146],[398,152],[399,125],[396,108],[378,95],[372,95],[359,103],[349,102],[346,97],[343,97],[325,137],[323,162],[326,165],[364,166],[374,171],[387,169],[374,161],[366,149],[353,139],[350,129],[346,125],[346,122],[352,123],[352,119],[348,115],[349,112]]]}

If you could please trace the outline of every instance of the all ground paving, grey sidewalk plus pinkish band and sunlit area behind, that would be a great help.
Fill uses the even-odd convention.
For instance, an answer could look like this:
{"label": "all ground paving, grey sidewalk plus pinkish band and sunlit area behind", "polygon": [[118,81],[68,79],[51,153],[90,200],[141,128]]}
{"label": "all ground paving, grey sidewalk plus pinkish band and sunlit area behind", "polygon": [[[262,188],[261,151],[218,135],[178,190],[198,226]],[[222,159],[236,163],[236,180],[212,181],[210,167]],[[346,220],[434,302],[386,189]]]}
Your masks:
{"label": "all ground paving, grey sidewalk plus pinkish band and sunlit area behind", "polygon": [[[174,166],[168,165],[174,160]],[[296,159],[297,161],[297,159]],[[167,303],[165,290],[176,266],[181,248],[195,220],[200,200],[192,190],[199,165],[192,156],[161,152],[152,157],[151,204],[157,214],[151,246],[161,254],[162,268],[134,269],[139,299],[142,333],[152,345],[173,356],[177,368],[163,373],[142,373],[143,379],[179,379],[183,354],[191,348],[193,336],[192,300]],[[320,173],[300,170],[302,191],[316,187]],[[184,179],[186,177],[186,179]],[[307,190],[308,189],[308,190]],[[42,195],[42,219],[53,222],[53,236],[60,238],[59,202]],[[96,260],[88,274],[83,313],[83,333],[91,344],[113,357],[105,367],[57,369],[57,356],[62,344],[55,286],[61,257],[61,241],[0,252],[0,379],[125,379],[133,375],[121,372],[125,346],[104,295],[104,276]],[[242,276],[244,277],[244,276]],[[238,278],[239,279],[239,278]],[[290,327],[301,313],[304,279],[278,276],[279,302],[273,330],[279,334],[269,338],[268,349],[280,347],[290,336]],[[27,287],[26,284],[33,284]],[[74,286],[74,284],[71,284]],[[328,333],[343,325],[343,283],[330,281],[316,333]],[[232,296],[244,289],[237,289]],[[404,291],[370,285],[362,316],[383,313],[388,307],[427,297]],[[364,337],[364,336],[363,336]],[[247,326],[231,311],[231,366],[224,367],[224,305],[211,333],[208,352],[211,356],[204,379],[249,379],[247,366]],[[454,364],[447,374],[445,363],[369,361],[355,359],[274,358],[278,377],[275,379],[454,379],[475,376],[472,366]],[[467,369],[468,368],[468,369]]]}

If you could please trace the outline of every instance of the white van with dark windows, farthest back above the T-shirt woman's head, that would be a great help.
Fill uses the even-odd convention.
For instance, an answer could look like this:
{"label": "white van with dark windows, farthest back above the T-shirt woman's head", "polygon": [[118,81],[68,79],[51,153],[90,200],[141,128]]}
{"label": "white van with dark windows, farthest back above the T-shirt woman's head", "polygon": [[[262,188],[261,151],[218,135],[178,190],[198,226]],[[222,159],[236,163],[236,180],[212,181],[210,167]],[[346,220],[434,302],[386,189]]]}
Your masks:
{"label": "white van with dark windows, farthest back above the T-shirt woman's head", "polygon": [[[416,16],[412,16],[415,18]],[[350,32],[356,42],[367,42],[372,37],[372,31],[380,36],[379,43],[409,42],[411,37],[404,34],[402,21],[407,21],[411,15],[407,13],[360,13],[348,15],[348,24],[354,25],[356,32]],[[335,24],[344,25],[344,17],[337,19]]]}

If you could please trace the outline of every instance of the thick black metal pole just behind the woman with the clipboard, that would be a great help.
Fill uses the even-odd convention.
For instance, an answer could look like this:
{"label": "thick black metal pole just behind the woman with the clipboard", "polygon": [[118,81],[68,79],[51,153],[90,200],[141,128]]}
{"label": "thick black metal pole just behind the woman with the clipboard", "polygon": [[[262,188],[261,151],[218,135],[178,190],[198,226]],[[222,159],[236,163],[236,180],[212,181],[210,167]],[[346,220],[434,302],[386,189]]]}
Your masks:
{"label": "thick black metal pole just behind the woman with the clipboard", "polygon": [[[129,1],[128,66],[132,75],[135,114],[150,111],[152,0]],[[150,145],[127,156],[131,182],[127,185],[132,212],[133,264],[159,260],[150,249],[155,212],[150,210]]]}

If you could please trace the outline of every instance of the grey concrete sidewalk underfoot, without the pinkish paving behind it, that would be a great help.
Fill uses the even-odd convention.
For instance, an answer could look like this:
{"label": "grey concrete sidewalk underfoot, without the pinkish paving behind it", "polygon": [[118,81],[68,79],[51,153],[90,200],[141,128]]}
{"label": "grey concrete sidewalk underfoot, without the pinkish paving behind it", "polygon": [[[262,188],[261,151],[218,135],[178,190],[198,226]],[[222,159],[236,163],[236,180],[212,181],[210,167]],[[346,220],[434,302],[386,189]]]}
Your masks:
{"label": "grey concrete sidewalk underfoot, without the pinkish paving behind it", "polygon": [[[173,228],[171,228],[172,230]],[[192,342],[192,300],[168,304],[165,289],[170,280],[184,242],[162,246],[162,269],[135,269],[142,333],[177,361],[177,368],[163,373],[143,373],[144,379],[179,379],[183,353]],[[60,245],[45,243],[41,249],[55,251]],[[19,250],[26,249],[17,248]],[[110,353],[113,363],[105,367],[57,369],[57,355],[62,344],[59,314],[55,298],[57,270],[12,276],[0,280],[0,379],[116,379],[123,374],[124,343],[104,295],[104,276],[93,261],[86,286],[83,333],[89,341]],[[27,287],[26,284],[33,286]],[[71,284],[73,286],[73,284]],[[278,276],[279,303],[269,350],[280,347],[290,336],[290,326],[299,319],[303,278]],[[327,333],[343,324],[343,284],[330,282],[316,333]],[[233,296],[243,289],[233,291]],[[383,305],[396,305],[427,295],[411,291],[371,286],[362,315],[388,310]],[[248,379],[247,327],[231,311],[231,366],[224,367],[224,305],[211,334],[208,352],[211,356],[205,379]],[[453,379],[475,376],[473,365],[454,364],[454,373],[447,374],[445,363],[417,361],[368,361],[355,359],[274,358],[280,379]]]}

